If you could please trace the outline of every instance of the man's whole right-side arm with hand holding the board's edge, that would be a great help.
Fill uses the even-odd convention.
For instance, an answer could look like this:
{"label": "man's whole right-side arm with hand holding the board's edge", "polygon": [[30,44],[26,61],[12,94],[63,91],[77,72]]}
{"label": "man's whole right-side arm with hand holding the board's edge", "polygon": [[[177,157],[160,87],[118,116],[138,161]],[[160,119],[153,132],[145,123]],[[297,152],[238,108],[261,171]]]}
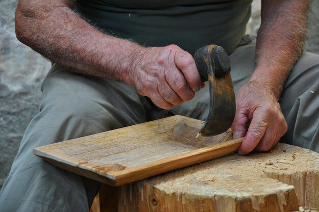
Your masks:
{"label": "man's whole right-side arm with hand holding the board's edge", "polygon": [[278,99],[303,51],[307,9],[306,0],[262,1],[255,71],[236,96],[234,137],[246,134],[238,154],[267,151],[287,131]]}

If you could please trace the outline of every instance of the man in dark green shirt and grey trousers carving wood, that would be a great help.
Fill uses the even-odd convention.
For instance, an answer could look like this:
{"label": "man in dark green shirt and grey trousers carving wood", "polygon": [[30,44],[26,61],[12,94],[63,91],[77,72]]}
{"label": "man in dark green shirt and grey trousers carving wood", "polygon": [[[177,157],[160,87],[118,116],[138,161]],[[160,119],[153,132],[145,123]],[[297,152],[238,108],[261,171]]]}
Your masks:
{"label": "man in dark green shirt and grey trousers carving wood", "polygon": [[250,4],[20,0],[17,38],[54,65],[1,191],[0,210],[89,210],[100,183],[51,166],[32,154],[35,147],[174,114],[204,119],[207,86],[192,55],[208,44],[230,55],[232,129],[234,138],[246,135],[238,154],[267,151],[279,140],[319,151],[319,56],[305,53],[294,66],[308,3],[263,1],[256,46],[239,46]]}

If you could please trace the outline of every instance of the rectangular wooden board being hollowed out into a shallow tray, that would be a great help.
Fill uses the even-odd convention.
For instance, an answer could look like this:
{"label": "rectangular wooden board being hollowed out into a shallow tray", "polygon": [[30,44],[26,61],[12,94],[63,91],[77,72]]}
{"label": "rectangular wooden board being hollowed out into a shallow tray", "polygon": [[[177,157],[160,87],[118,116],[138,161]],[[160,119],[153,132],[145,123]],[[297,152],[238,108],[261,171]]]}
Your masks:
{"label": "rectangular wooden board being hollowed out into a shallow tray", "polygon": [[119,186],[235,152],[232,133],[197,137],[202,121],[173,116],[34,149],[53,165]]}

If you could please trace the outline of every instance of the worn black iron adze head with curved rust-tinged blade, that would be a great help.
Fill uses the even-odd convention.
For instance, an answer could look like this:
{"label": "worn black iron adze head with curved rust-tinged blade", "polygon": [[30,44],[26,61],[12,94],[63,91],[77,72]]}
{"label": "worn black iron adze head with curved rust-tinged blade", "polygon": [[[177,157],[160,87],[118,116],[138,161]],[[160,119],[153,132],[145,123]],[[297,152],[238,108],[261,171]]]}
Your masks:
{"label": "worn black iron adze head with curved rust-tinged blade", "polygon": [[229,129],[236,111],[230,60],[218,45],[197,49],[194,58],[202,82],[209,84],[209,113],[199,135],[216,136]]}

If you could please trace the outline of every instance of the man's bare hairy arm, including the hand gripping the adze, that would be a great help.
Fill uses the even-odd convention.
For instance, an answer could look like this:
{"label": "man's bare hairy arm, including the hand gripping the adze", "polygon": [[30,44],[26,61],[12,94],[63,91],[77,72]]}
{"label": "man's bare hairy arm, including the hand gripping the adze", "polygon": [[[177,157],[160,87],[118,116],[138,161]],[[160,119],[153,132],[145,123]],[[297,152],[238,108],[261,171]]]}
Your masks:
{"label": "man's bare hairy arm, including the hand gripping the adze", "polygon": [[176,45],[142,47],[103,34],[72,11],[67,0],[20,0],[16,36],[72,71],[135,86],[158,107],[194,97],[202,83],[193,57]]}

